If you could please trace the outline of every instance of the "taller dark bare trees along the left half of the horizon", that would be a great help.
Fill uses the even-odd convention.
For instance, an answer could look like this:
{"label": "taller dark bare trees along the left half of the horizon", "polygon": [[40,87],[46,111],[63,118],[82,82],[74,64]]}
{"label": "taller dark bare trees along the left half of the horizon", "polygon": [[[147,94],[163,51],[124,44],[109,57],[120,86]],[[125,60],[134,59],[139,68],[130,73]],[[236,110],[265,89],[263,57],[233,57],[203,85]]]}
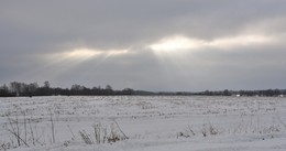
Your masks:
{"label": "taller dark bare trees along the left half of the horizon", "polygon": [[51,87],[50,82],[44,82],[43,86],[37,83],[19,83],[12,82],[9,85],[0,86],[0,97],[18,97],[18,96],[110,96],[110,95],[133,95],[134,90],[124,88],[122,90],[113,90],[110,85],[105,88],[88,88],[78,84],[70,88]]}

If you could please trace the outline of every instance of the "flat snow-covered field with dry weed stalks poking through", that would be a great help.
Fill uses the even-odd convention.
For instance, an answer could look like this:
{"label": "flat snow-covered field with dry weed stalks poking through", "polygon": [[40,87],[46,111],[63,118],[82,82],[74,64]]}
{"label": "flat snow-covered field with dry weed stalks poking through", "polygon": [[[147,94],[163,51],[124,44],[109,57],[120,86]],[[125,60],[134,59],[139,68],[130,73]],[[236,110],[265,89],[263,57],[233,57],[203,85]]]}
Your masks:
{"label": "flat snow-covered field with dry weed stalks poking through", "polygon": [[0,98],[0,150],[285,151],[286,98]]}

